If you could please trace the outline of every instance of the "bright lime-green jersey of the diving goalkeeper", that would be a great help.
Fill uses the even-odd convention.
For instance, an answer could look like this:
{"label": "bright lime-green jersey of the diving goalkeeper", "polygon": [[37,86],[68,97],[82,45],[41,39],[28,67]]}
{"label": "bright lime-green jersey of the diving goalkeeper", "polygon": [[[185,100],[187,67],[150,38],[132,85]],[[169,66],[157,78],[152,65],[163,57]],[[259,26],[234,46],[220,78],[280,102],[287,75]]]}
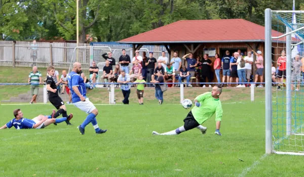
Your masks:
{"label": "bright lime-green jersey of the diving goalkeeper", "polygon": [[195,106],[192,108],[192,114],[194,119],[199,123],[203,124],[207,121],[214,112],[216,113],[215,121],[221,121],[223,114],[223,109],[219,99],[214,99],[211,95],[211,92],[206,92],[195,98],[201,103],[200,107]]}

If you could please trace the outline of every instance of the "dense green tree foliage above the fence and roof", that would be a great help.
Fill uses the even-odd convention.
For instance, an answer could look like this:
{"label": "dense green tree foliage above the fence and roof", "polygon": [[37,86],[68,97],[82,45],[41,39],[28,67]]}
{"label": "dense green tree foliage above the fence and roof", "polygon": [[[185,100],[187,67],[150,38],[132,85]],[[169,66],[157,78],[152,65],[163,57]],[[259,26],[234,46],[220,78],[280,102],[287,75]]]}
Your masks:
{"label": "dense green tree foliage above the fence and roof", "polygon": [[[117,41],[176,22],[242,18],[263,25],[264,10],[291,10],[292,0],[81,0],[80,40]],[[296,10],[304,2],[296,1]],[[0,36],[76,39],[76,1],[0,0]],[[19,30],[19,32],[16,32]],[[4,36],[3,36],[4,38]]]}

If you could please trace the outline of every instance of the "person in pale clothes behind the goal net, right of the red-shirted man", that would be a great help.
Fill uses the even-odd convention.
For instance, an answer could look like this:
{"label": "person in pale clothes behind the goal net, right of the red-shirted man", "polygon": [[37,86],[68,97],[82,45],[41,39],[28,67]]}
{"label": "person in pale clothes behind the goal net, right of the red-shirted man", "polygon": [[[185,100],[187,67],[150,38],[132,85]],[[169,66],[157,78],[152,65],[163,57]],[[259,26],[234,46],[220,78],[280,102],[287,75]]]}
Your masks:
{"label": "person in pale clothes behind the goal net, right of the red-shirted man", "polygon": [[300,55],[295,55],[295,60],[292,61],[292,72],[291,72],[291,90],[295,87],[294,83],[297,83],[295,91],[300,90],[300,74],[301,74],[301,68],[302,68],[302,62],[299,60]]}

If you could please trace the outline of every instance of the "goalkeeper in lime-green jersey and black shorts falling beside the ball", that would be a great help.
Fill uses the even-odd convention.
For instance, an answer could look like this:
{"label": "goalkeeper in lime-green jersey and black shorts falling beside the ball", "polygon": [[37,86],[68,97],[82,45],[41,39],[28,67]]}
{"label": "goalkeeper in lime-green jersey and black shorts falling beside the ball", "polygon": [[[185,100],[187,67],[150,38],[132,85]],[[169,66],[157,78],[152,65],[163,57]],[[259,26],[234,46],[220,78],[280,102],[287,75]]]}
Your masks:
{"label": "goalkeeper in lime-green jersey and black shorts falling beside the ball", "polygon": [[195,98],[195,107],[187,114],[186,118],[183,120],[184,125],[177,128],[176,130],[172,130],[167,133],[157,133],[152,132],[153,135],[178,135],[182,132],[197,128],[203,134],[206,133],[207,127],[203,127],[205,121],[207,121],[214,113],[216,113],[215,121],[216,121],[216,130],[215,134],[221,135],[219,132],[220,122],[222,117],[222,107],[219,100],[219,95],[222,92],[222,88],[220,85],[214,86],[211,92],[206,92],[204,94],[199,95]]}

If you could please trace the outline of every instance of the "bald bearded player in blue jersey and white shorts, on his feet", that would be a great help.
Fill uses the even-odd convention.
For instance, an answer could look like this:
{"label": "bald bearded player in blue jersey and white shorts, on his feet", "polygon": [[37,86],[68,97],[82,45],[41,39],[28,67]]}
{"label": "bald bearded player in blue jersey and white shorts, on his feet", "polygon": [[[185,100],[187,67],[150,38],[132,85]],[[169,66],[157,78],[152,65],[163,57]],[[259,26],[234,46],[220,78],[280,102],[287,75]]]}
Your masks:
{"label": "bald bearded player in blue jersey and white shorts, on his feet", "polygon": [[99,129],[97,125],[96,116],[98,114],[98,110],[93,105],[91,101],[89,101],[89,98],[86,97],[86,86],[84,83],[84,80],[82,77],[80,77],[81,72],[81,64],[78,62],[75,62],[73,64],[72,72],[69,73],[67,77],[68,81],[68,87],[72,94],[72,102],[73,104],[80,108],[82,111],[85,111],[87,114],[89,114],[86,118],[86,120],[78,126],[78,130],[82,135],[85,134],[85,127],[92,123],[96,134],[102,134],[105,133],[107,130],[101,130]]}

